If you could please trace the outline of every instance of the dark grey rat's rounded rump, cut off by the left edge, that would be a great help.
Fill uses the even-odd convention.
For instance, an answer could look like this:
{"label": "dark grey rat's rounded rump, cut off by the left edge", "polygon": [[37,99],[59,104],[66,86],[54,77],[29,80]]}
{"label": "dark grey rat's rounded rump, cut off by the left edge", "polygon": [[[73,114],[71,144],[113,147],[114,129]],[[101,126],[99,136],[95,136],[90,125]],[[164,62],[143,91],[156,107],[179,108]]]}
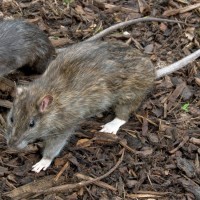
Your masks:
{"label": "dark grey rat's rounded rump, cut off by the left edge", "polygon": [[55,49],[37,26],[21,20],[0,22],[0,76],[23,66],[43,73]]}

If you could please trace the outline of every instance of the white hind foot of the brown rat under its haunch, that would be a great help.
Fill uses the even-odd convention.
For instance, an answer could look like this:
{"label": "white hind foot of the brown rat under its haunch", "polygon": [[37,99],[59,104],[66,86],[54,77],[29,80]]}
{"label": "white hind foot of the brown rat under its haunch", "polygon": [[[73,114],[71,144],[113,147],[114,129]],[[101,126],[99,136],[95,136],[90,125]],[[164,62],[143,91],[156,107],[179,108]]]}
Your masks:
{"label": "white hind foot of the brown rat under its haunch", "polygon": [[102,129],[100,130],[100,132],[116,134],[120,126],[122,126],[125,123],[126,121],[119,118],[115,118],[111,122],[101,126]]}

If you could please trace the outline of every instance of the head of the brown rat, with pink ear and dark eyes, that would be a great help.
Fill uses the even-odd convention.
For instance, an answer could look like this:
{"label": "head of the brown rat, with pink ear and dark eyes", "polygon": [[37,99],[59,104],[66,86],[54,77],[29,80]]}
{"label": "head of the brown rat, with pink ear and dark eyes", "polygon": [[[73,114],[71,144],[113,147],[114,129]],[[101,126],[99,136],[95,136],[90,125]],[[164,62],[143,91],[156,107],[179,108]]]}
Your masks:
{"label": "head of the brown rat, with pink ear and dark eyes", "polygon": [[16,98],[7,116],[6,139],[10,147],[23,149],[47,134],[50,126],[46,119],[53,97],[38,93],[29,87],[16,89]]}

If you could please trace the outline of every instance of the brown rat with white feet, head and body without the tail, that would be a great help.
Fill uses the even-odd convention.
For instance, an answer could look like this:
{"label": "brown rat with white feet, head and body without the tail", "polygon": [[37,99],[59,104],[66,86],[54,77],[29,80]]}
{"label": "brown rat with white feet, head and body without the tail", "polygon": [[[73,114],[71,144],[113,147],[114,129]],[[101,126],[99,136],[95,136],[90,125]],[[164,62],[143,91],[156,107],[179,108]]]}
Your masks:
{"label": "brown rat with white feet, head and body without the tail", "polygon": [[126,44],[73,45],[39,79],[18,88],[8,115],[8,144],[23,148],[43,139],[43,158],[33,170],[46,169],[87,117],[113,107],[116,118],[102,131],[116,133],[138,108],[154,79],[150,59]]}

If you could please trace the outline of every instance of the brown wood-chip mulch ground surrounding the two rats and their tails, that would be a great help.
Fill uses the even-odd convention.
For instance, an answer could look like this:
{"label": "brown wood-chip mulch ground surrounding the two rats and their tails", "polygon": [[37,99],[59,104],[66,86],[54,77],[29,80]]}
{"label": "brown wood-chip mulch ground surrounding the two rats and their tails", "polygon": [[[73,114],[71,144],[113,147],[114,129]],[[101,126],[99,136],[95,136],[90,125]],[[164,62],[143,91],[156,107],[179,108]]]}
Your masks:
{"label": "brown wood-chip mulch ground surrounding the two rats and their tails", "polygon": [[[121,40],[148,54],[156,68],[200,48],[199,0],[3,0],[1,18],[23,18],[45,31],[56,48],[125,20],[144,16],[186,24],[138,23],[104,40]],[[128,32],[129,34],[124,34]],[[46,171],[34,173],[40,142],[7,148],[0,132],[0,199],[200,199],[200,59],[155,81],[155,88],[117,136],[99,133],[108,111],[88,119]],[[0,123],[15,83],[38,75],[16,71],[0,80]]]}

